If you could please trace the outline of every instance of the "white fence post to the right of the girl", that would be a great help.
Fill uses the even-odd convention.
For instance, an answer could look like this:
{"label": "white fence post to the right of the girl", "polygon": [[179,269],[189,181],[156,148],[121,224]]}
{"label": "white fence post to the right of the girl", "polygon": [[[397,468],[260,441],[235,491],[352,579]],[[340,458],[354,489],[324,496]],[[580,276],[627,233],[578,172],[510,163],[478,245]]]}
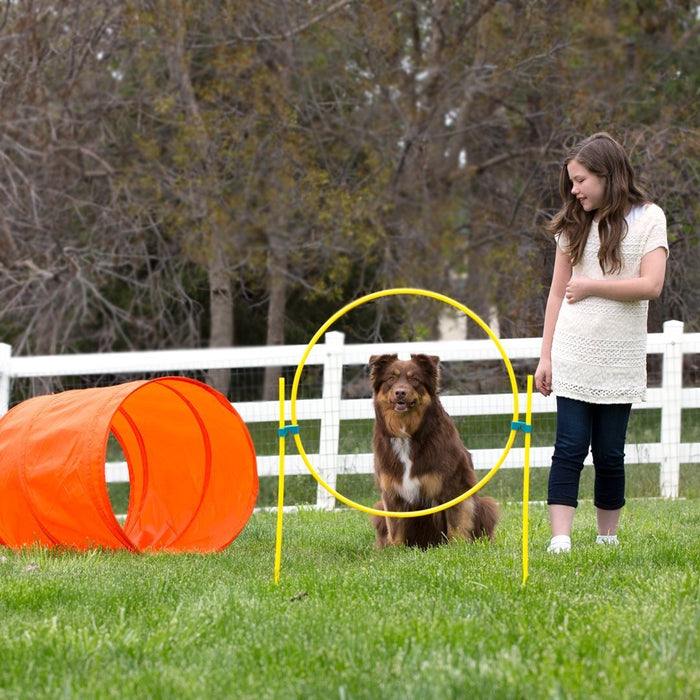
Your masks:
{"label": "white fence post to the right of the girl", "polygon": [[683,322],[664,323],[664,358],[661,373],[662,498],[678,498],[680,477],[681,409],[683,393]]}

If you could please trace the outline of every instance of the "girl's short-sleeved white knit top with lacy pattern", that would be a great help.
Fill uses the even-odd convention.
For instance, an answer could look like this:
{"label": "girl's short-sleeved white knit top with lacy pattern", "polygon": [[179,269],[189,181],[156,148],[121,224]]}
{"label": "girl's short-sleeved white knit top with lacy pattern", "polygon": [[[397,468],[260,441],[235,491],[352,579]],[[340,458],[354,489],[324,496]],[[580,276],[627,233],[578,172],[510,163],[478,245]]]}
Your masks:
{"label": "girl's short-sleeved white knit top with lacy pattern", "polygon": [[[623,266],[604,275],[598,263],[598,224],[588,235],[573,276],[630,279],[639,276],[642,257],[656,248],[668,253],[666,217],[655,204],[635,207],[627,216],[622,241]],[[557,242],[566,250],[564,234]],[[552,341],[552,390],[559,396],[590,403],[634,403],[646,397],[646,336],[649,302],[587,297],[564,300]]]}

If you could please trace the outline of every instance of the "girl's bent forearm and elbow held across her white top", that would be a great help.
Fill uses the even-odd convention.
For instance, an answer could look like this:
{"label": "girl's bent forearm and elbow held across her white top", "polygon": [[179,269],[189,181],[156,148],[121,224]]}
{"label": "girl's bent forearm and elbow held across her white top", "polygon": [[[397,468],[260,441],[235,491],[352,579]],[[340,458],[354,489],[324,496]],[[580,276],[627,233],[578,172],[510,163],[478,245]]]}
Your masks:
{"label": "girl's bent forearm and elbow held across her white top", "polygon": [[614,301],[656,299],[664,286],[666,276],[666,249],[659,247],[643,258],[639,277],[628,280],[594,280],[575,277],[566,285],[566,301],[574,304],[586,297],[602,297]]}

